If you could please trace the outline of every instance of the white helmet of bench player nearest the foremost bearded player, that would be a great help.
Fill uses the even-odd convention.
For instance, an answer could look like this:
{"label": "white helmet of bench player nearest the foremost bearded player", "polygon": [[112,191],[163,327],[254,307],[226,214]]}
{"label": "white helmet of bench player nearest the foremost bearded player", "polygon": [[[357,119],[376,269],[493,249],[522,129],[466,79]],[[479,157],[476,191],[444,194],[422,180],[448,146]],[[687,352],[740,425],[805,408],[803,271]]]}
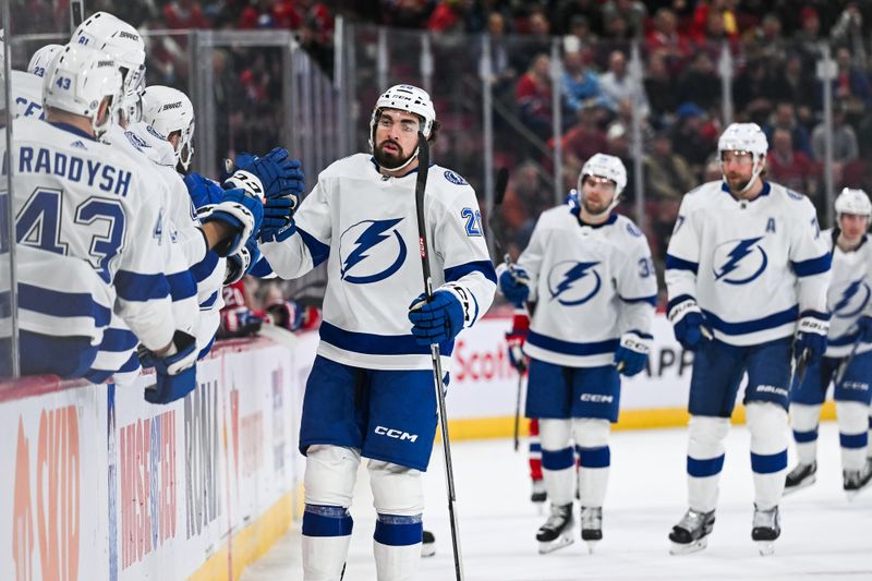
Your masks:
{"label": "white helmet of bench player nearest the foremost bearded player", "polygon": [[143,93],[143,121],[168,138],[180,133],[175,161],[187,170],[194,155],[194,106],[187,95],[164,85],[152,85]]}

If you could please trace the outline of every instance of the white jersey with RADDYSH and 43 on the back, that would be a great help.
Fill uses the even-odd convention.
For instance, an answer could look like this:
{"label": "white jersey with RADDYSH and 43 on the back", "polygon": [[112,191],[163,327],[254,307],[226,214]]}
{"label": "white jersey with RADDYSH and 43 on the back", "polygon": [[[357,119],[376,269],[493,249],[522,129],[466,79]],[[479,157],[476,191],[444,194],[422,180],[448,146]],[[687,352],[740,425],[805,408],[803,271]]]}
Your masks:
{"label": "white jersey with RADDYSH and 43 on the back", "polygon": [[21,327],[96,346],[114,311],[146,347],[165,348],[170,244],[147,175],[71,125],[20,118],[14,144]]}

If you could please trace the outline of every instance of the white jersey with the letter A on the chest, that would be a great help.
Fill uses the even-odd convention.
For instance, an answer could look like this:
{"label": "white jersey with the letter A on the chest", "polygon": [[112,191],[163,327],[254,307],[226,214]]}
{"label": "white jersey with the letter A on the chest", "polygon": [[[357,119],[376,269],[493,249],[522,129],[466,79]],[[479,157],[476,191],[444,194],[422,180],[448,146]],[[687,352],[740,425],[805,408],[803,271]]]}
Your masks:
{"label": "white jersey with the letter A on the chest", "polygon": [[708,182],[681,201],[666,253],[668,310],[695,301],[729,344],[789,337],[803,313],[825,316],[829,264],[808,197],[763,182],[740,201]]}

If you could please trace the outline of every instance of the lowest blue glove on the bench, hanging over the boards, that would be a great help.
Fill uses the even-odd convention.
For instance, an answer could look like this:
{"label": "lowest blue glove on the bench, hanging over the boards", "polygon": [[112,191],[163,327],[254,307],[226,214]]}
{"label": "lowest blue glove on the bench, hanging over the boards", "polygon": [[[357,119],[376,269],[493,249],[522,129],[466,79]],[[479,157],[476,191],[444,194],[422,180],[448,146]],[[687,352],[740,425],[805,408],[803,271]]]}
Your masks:
{"label": "lowest blue glove on the bench, hanging over the boards", "polygon": [[[141,358],[142,361],[142,358]],[[168,353],[154,355],[157,382],[145,390],[149,403],[169,403],[185,397],[197,385],[197,340],[177,330]]]}

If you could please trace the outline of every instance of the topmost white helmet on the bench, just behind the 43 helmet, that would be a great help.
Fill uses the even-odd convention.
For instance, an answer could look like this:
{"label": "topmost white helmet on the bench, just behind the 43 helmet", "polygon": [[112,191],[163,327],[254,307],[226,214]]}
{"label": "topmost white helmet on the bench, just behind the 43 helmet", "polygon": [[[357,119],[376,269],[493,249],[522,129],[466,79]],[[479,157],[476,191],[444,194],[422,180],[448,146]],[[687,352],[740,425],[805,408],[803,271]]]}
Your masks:
{"label": "topmost white helmet on the bench, just behind the 43 helmet", "polygon": [[140,121],[145,89],[145,43],[136,28],[108,12],[97,12],[78,25],[70,43],[98,48],[116,60],[124,78],[123,112],[129,122]]}

